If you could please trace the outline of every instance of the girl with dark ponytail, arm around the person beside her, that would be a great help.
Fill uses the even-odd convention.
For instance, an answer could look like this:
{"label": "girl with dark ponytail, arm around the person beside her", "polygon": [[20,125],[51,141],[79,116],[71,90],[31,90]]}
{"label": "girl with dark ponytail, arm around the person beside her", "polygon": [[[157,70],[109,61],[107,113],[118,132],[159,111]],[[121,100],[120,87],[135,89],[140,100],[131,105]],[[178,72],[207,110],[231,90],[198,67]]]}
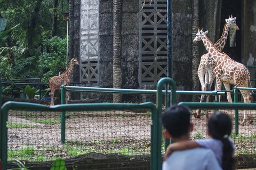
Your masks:
{"label": "girl with dark ponytail, arm around the person beside her", "polygon": [[203,147],[214,152],[223,170],[234,169],[234,145],[230,138],[232,128],[230,117],[219,111],[214,112],[210,116],[207,126],[207,133],[212,137],[211,139],[172,143],[167,148],[164,159],[175,150]]}

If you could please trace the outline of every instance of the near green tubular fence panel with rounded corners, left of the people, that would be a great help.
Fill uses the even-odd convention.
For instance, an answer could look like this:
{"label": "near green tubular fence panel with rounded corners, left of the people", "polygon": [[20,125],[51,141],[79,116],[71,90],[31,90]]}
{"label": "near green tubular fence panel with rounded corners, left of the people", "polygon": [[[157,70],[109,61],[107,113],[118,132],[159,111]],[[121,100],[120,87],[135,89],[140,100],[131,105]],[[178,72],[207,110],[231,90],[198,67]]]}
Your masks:
{"label": "near green tubular fence panel with rounded corners, left of the people", "polygon": [[[151,118],[152,119],[152,125],[151,125],[151,130],[150,130],[151,131],[151,137],[150,137],[151,146],[149,145],[149,147],[151,148],[151,150],[150,150],[151,168],[152,169],[158,169],[158,167],[161,166],[161,164],[160,164],[161,162],[160,163],[158,162],[158,159],[159,159],[158,157],[161,158],[161,151],[159,151],[159,148],[161,150],[161,145],[159,145],[159,143],[157,142],[157,138],[158,138],[157,136],[159,135],[158,134],[158,127],[159,127],[159,123],[158,123],[159,119],[158,118],[159,118],[159,116],[158,116],[157,108],[156,108],[154,103],[147,102],[147,103],[141,103],[141,104],[131,104],[131,103],[64,104],[64,105],[57,105],[57,106],[53,106],[53,107],[47,107],[47,106],[43,106],[41,104],[33,104],[33,103],[6,102],[2,106],[1,110],[2,111],[1,111],[1,117],[0,117],[0,119],[1,119],[1,143],[0,143],[1,153],[0,153],[0,156],[1,156],[1,159],[3,161],[3,169],[7,169],[7,167],[8,167],[7,166],[7,160],[8,160],[7,156],[9,154],[11,154],[11,152],[9,152],[9,151],[14,150],[13,148],[17,147],[17,145],[19,145],[19,144],[20,145],[26,144],[26,143],[29,144],[29,140],[36,138],[37,135],[38,135],[38,137],[40,137],[39,134],[34,134],[33,135],[33,132],[28,134],[28,136],[26,136],[27,135],[26,133],[23,133],[24,136],[21,136],[21,137],[23,137],[23,139],[19,139],[19,141],[21,143],[19,143],[19,144],[16,143],[15,144],[16,146],[10,146],[8,143],[11,143],[11,142],[10,142],[10,140],[9,141],[7,140],[7,136],[8,136],[8,139],[10,139],[10,137],[12,137],[12,135],[15,134],[15,133],[12,134],[12,135],[7,134],[7,132],[9,132],[9,131],[7,131],[6,126],[8,126],[7,123],[10,123],[9,122],[10,117],[9,117],[9,114],[8,114],[8,112],[10,110],[30,110],[30,111],[34,111],[34,112],[41,112],[42,116],[44,116],[44,114],[42,114],[42,112],[51,112],[51,114],[53,114],[53,112],[57,112],[56,114],[58,115],[59,111],[76,111],[76,112],[77,111],[101,111],[100,113],[102,113],[102,111],[106,112],[106,111],[121,111],[121,110],[126,110],[126,111],[127,110],[133,110],[133,111],[135,111],[135,110],[149,110],[151,112],[151,117],[152,117]],[[100,115],[100,113],[98,113],[98,114]],[[22,114],[25,114],[25,112],[22,112]],[[29,116],[31,117],[31,115],[29,115]],[[39,116],[39,115],[36,115],[36,116]],[[74,117],[74,115],[69,115],[69,116]],[[25,122],[23,122],[23,123],[25,123]],[[149,125],[150,124],[151,123],[149,123]],[[30,124],[30,125],[37,126],[37,124]],[[41,127],[41,129],[43,131],[43,129],[44,129],[43,126],[44,125],[43,126],[38,125],[38,126],[39,126],[39,128]],[[73,128],[75,128],[75,127],[73,127]],[[95,128],[97,129],[97,127],[98,126],[96,125]],[[28,133],[29,129],[31,130],[31,128],[34,128],[34,127],[26,127],[27,133]],[[84,127],[84,128],[86,128],[86,127]],[[11,128],[9,128],[9,129],[11,129]],[[53,129],[48,131],[50,133],[50,136],[55,135],[55,133],[52,132],[52,130]],[[116,129],[116,131],[118,131],[118,129]],[[138,131],[138,129],[137,129],[137,131]],[[20,137],[20,136],[18,136],[18,137]],[[79,136],[77,136],[77,137],[79,137]],[[39,139],[39,140],[45,140],[45,139]],[[122,139],[118,139],[118,140],[122,140]],[[141,139],[141,140],[143,140],[143,139]],[[73,141],[73,142],[76,142],[76,141]],[[115,143],[115,142],[118,142],[118,141],[113,140],[112,142]],[[57,147],[57,148],[58,147],[64,147],[64,146],[65,145],[60,145],[60,141],[59,141],[59,144],[55,145],[55,147]],[[41,149],[41,151],[43,150],[43,148],[46,148],[46,146],[45,145],[42,146],[42,144],[40,145],[40,147],[39,147],[39,149]],[[54,150],[52,152],[54,152]],[[33,155],[33,153],[31,153],[31,154]],[[130,159],[133,160],[133,158],[135,159],[135,157],[136,157],[136,155],[133,155],[133,156],[131,156]],[[64,158],[65,158],[65,156],[64,156]],[[98,159],[100,159],[100,158],[98,158]],[[118,159],[116,160],[116,162],[118,162]],[[120,163],[120,164],[122,164],[122,163]],[[29,164],[27,164],[27,165],[29,165]],[[96,165],[94,164],[94,166],[96,166]],[[109,166],[110,166],[109,169],[111,169],[111,163],[109,163]],[[125,165],[123,165],[123,166],[125,166]],[[136,166],[134,166],[134,168],[136,168]]]}

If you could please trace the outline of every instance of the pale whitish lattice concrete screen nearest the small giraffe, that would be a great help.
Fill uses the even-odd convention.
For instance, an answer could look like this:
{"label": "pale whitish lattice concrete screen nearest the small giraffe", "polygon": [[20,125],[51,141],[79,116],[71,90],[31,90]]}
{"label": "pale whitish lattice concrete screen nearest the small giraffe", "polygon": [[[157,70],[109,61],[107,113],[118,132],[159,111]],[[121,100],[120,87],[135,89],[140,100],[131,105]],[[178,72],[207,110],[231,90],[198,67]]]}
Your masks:
{"label": "pale whitish lattice concrete screen nearest the small giraffe", "polygon": [[81,1],[81,82],[99,83],[99,0]]}

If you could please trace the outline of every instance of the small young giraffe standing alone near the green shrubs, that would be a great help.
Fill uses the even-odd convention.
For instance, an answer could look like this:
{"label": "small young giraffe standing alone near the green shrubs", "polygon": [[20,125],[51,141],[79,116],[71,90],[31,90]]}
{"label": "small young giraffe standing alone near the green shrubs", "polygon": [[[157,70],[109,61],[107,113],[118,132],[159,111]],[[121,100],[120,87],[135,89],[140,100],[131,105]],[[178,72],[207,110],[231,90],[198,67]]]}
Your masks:
{"label": "small young giraffe standing alone near the green shrubs", "polygon": [[[54,105],[53,96],[54,96],[55,90],[60,89],[61,85],[69,85],[70,84],[70,79],[73,74],[75,65],[79,65],[79,63],[76,58],[73,58],[70,60],[66,71],[64,71],[59,76],[53,76],[52,78],[50,78],[49,86],[51,88],[51,106]],[[66,92],[66,104],[67,103],[68,103],[68,93]]]}

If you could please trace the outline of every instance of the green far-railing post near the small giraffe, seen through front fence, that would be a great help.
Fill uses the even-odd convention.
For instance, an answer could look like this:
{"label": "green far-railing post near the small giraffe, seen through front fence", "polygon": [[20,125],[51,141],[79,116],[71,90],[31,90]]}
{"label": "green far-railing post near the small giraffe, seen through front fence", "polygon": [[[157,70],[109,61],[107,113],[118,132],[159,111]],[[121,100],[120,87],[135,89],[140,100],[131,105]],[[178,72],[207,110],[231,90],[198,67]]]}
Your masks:
{"label": "green far-railing post near the small giraffe, seen through front fence", "polygon": [[[65,86],[61,86],[61,104],[66,104],[66,88]],[[61,143],[65,143],[65,131],[66,131],[66,122],[65,122],[65,117],[66,117],[66,113],[65,111],[61,111],[60,113],[61,115],[61,119],[60,119],[60,131],[61,131]]]}

